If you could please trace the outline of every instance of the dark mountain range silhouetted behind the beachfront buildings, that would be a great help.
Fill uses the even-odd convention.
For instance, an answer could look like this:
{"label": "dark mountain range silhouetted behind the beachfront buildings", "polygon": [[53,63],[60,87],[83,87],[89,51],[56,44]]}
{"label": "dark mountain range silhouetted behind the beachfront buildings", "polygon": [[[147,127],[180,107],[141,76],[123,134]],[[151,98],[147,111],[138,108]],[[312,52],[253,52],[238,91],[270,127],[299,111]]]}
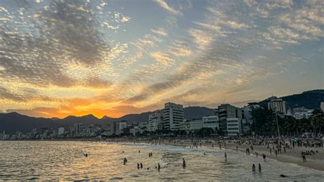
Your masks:
{"label": "dark mountain range silhouetted behind the beachfront buildings", "polygon": [[[276,96],[260,101],[259,105],[267,107],[267,103]],[[290,96],[282,96],[287,102],[288,107],[306,107],[308,109],[319,109],[321,102],[324,102],[324,90],[310,90],[302,92],[301,94],[293,94]],[[129,125],[133,122],[147,122],[148,115],[152,112],[144,112],[141,114],[127,114],[120,118],[111,118],[103,116],[103,118],[96,118],[92,114],[86,116],[68,116],[66,118],[34,118],[24,116],[16,112],[0,114],[0,131],[5,130],[7,133],[15,131],[29,132],[31,129],[39,129],[41,127],[71,127],[77,122],[82,122],[84,125],[98,124],[109,125],[113,121],[126,120]],[[214,114],[214,109],[207,107],[185,107],[185,119],[200,118],[202,116],[211,116]]]}

